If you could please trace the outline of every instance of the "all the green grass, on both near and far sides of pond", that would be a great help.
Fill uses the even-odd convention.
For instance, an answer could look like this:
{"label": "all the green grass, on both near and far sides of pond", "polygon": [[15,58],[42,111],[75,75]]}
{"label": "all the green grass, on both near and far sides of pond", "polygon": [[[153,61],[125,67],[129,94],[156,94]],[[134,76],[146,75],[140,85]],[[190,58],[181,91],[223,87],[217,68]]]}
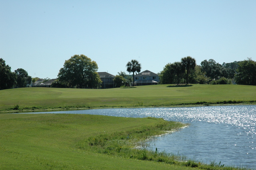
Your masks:
{"label": "all the green grass, on both near and far sides of pond", "polygon": [[[0,169],[227,169],[135,150],[138,140],[179,128],[163,119],[6,111],[256,103],[256,86],[150,85],[114,89],[0,91]],[[130,137],[127,138],[128,134]],[[152,160],[152,161],[149,161]],[[178,162],[177,162],[178,161]],[[190,167],[187,167],[190,166]]]}

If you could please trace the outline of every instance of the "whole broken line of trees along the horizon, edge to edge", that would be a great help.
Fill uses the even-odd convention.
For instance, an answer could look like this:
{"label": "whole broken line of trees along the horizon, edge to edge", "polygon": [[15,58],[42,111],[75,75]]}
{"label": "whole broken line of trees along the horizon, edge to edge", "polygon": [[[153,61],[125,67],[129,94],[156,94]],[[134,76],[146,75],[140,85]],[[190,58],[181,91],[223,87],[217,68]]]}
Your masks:
{"label": "whole broken line of trees along the horizon, edge to edge", "polygon": [[[114,79],[115,87],[124,86],[127,82],[134,85],[134,73],[140,72],[141,64],[137,60],[131,60],[126,64],[126,71],[118,73]],[[65,88],[100,88],[102,83],[97,73],[98,65],[87,56],[74,55],[64,62],[58,73],[58,79],[52,83],[52,87]],[[47,79],[47,78],[46,78]],[[256,85],[256,61],[248,58],[244,61],[223,63],[214,59],[204,60],[200,65],[190,56],[184,57],[180,62],[168,63],[159,73],[161,84],[231,84],[234,81],[241,85]],[[47,79],[48,80],[48,79]],[[27,71],[19,68],[11,72],[11,67],[0,58],[0,90],[26,87],[35,80]]]}

